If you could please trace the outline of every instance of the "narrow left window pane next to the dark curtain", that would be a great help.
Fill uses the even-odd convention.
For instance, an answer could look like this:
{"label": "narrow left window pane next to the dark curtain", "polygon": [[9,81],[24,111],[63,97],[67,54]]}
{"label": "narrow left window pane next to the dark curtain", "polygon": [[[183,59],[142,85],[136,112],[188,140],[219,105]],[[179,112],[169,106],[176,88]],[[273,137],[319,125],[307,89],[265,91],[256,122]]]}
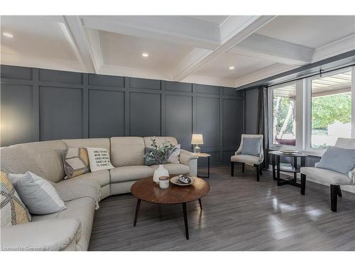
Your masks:
{"label": "narrow left window pane next to the dark curtain", "polygon": [[275,87],[273,92],[273,144],[296,145],[296,84]]}

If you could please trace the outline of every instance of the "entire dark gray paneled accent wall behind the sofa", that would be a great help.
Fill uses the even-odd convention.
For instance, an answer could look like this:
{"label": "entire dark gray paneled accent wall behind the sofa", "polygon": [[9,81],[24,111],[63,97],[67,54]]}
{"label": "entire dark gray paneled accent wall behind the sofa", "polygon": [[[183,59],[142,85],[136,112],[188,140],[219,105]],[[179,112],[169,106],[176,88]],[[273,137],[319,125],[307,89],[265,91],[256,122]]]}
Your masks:
{"label": "entire dark gray paneled accent wall behind the sofa", "polygon": [[239,147],[244,107],[234,88],[1,65],[1,146],[173,135],[191,150],[202,133],[202,152],[221,165]]}

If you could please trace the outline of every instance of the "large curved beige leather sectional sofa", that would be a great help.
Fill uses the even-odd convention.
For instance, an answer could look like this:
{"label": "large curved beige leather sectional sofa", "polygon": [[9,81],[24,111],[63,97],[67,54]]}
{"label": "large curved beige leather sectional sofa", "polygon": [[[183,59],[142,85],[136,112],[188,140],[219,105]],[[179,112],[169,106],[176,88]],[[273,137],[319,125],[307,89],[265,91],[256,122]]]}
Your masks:
{"label": "large curved beige leather sectional sofa", "polygon": [[[50,140],[1,148],[1,169],[18,174],[31,171],[48,179],[53,182],[67,207],[55,214],[33,215],[30,223],[1,228],[1,249],[87,250],[97,208],[95,199],[129,193],[136,180],[153,175],[157,166],[144,165],[143,157],[145,148],[151,147],[151,138]],[[158,144],[165,140],[178,144],[173,137],[155,139]],[[107,148],[115,168],[64,179],[62,151],[80,147]],[[169,174],[196,175],[197,155],[181,150],[180,164],[167,164],[165,168]]]}

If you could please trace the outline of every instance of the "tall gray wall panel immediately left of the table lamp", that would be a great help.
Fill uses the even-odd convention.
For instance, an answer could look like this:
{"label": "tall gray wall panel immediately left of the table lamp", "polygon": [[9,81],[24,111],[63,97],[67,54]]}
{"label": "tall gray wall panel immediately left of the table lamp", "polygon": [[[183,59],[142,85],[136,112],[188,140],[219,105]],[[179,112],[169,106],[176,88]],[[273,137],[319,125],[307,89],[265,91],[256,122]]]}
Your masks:
{"label": "tall gray wall panel immediately left of the table lamp", "polygon": [[173,135],[184,150],[191,148],[192,97],[165,95],[165,135]]}

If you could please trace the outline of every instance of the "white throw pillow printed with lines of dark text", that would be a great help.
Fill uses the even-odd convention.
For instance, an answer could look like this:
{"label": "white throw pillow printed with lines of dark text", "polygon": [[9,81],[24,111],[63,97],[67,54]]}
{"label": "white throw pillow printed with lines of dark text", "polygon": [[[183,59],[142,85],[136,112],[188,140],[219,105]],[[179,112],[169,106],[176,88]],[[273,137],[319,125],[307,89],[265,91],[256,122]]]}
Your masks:
{"label": "white throw pillow printed with lines of dark text", "polygon": [[87,155],[89,155],[91,172],[114,168],[111,165],[109,152],[106,148],[87,148]]}

